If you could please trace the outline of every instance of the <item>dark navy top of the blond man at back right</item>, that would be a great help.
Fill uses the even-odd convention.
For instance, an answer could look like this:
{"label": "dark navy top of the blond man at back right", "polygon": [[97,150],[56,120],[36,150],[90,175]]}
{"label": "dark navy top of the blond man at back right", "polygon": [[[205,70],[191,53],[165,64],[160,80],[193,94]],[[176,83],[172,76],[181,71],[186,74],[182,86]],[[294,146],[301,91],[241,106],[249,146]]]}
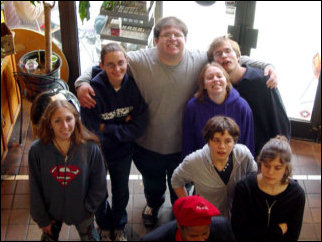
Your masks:
{"label": "dark navy top of the blond man at back right", "polygon": [[270,138],[280,134],[290,139],[291,125],[278,89],[267,88],[268,77],[264,76],[262,69],[246,68],[246,73],[234,87],[253,111],[257,156]]}

